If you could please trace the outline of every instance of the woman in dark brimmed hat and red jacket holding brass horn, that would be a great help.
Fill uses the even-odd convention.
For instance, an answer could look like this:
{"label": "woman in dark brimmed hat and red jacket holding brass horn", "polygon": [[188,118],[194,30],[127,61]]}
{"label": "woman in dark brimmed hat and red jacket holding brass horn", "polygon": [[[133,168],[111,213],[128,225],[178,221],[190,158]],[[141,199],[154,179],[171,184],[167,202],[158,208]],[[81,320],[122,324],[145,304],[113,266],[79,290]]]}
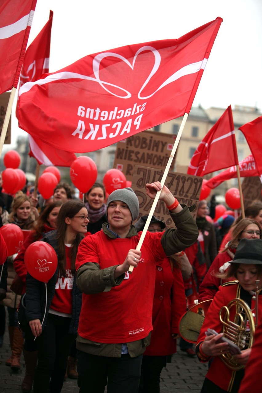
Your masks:
{"label": "woman in dark brimmed hat and red jacket holding brass horn", "polygon": [[[223,336],[222,322],[220,321],[220,310],[228,305],[233,299],[242,299],[249,308],[255,309],[255,291],[257,289],[256,280],[260,280],[258,288],[262,286],[262,240],[261,239],[241,239],[231,266],[226,277],[235,277],[236,281],[225,283],[219,287],[218,292],[209,307],[205,321],[198,337],[196,353],[201,362],[207,362],[213,358],[209,371],[207,372],[201,392],[238,392],[240,382],[244,376],[244,366],[246,365],[251,348],[248,343],[243,343],[240,354],[234,355],[234,359],[243,368],[237,371],[231,369],[222,360],[222,355],[227,354],[231,349],[228,342],[221,342]],[[260,298],[260,297],[259,297]],[[262,298],[260,298],[262,299]],[[224,312],[224,311],[223,311]],[[236,322],[236,306],[229,311],[229,320]],[[242,311],[240,311],[242,312]],[[262,312],[262,303],[258,301],[258,315]],[[236,320],[234,319],[236,318]],[[252,315],[250,314],[250,318]],[[249,337],[252,321],[247,322],[245,340]],[[218,335],[211,334],[206,336],[207,329],[214,329]],[[242,336],[242,339],[244,339]],[[241,344],[241,341],[240,341]]]}

